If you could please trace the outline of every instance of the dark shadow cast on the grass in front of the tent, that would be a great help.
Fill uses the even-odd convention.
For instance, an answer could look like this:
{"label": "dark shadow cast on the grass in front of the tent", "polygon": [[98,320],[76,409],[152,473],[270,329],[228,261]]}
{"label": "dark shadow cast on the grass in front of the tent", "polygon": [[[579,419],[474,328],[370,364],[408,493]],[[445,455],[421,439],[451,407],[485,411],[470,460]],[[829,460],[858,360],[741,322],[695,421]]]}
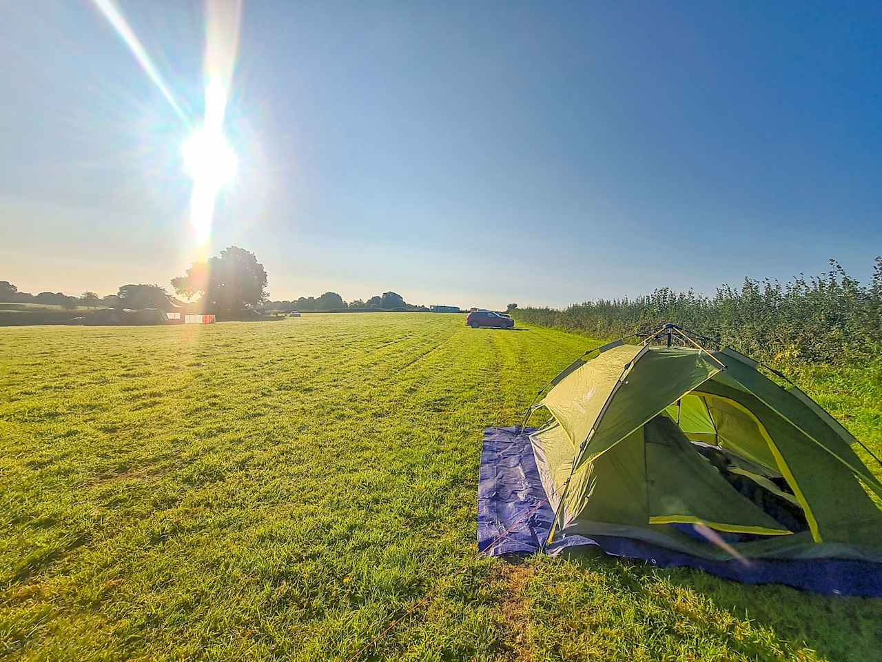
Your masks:
{"label": "dark shadow cast on the grass in front of the tent", "polygon": [[[821,658],[855,662],[878,655],[880,598],[823,596],[783,584],[744,584],[694,568],[654,568],[600,552],[567,559],[602,574],[647,610],[668,609],[747,658],[804,659],[805,648]],[[753,631],[749,636],[744,636],[745,621]]]}

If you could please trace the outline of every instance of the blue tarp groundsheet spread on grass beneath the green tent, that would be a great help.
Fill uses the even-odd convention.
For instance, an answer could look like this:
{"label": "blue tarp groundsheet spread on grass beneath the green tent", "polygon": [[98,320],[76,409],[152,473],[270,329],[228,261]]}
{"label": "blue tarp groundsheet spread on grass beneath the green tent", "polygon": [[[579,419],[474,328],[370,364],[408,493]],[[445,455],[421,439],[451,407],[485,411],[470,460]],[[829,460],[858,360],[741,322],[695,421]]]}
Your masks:
{"label": "blue tarp groundsheet spread on grass beneath the green tent", "polygon": [[[554,513],[528,438],[534,428],[484,430],[478,484],[478,550],[490,556],[527,555],[542,550]],[[612,556],[645,560],[661,568],[699,568],[742,583],[783,583],[829,595],[882,597],[882,564],[859,560],[709,560],[632,538],[569,536],[549,545],[594,546]]]}

